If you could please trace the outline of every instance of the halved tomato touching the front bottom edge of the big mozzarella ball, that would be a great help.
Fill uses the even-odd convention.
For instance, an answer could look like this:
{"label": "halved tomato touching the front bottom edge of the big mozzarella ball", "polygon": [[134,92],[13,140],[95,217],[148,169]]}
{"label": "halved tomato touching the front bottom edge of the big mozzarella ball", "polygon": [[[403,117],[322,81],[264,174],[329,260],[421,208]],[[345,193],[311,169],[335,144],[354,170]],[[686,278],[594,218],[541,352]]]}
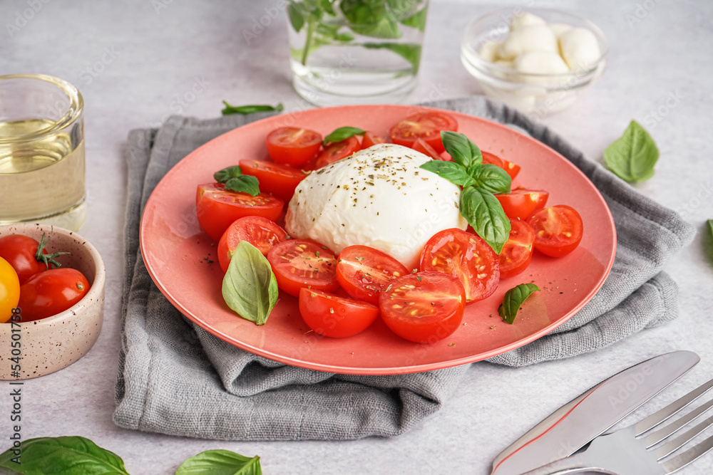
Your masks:
{"label": "halved tomato touching the front bottom edge of the big mozzarella ball", "polygon": [[339,285],[350,296],[371,303],[379,303],[379,293],[407,273],[404,264],[369,246],[347,246],[337,259]]}

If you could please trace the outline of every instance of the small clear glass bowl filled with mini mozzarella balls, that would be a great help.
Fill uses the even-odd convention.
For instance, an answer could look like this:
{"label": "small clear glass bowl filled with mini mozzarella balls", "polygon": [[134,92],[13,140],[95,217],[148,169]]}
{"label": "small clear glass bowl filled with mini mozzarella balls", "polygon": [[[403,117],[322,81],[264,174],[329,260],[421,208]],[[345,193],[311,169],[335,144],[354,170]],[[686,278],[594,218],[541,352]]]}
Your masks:
{"label": "small clear glass bowl filled with mini mozzarella balls", "polygon": [[604,73],[607,39],[565,11],[493,11],[463,33],[461,61],[483,93],[541,118],[572,105]]}

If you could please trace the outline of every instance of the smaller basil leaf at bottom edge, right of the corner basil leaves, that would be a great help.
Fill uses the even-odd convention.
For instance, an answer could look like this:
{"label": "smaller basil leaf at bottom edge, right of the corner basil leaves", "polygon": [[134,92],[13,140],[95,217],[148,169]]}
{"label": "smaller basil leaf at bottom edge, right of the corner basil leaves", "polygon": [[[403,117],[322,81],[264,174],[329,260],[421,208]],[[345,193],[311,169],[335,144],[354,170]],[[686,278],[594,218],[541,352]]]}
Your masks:
{"label": "smaller basil leaf at bottom edge, right of the corner basil leaves", "polygon": [[230,450],[206,450],[183,461],[176,475],[262,475],[260,457]]}

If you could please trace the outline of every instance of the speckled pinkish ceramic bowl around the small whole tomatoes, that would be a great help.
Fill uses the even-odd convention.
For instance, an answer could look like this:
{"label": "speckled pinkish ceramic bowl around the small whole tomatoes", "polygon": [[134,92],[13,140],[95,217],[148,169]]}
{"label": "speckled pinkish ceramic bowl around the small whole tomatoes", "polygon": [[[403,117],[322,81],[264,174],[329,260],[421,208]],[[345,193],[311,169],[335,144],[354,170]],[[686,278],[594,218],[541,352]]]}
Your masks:
{"label": "speckled pinkish ceramic bowl around the small whole tomatoes", "polygon": [[[0,226],[0,237],[8,234],[25,234],[39,241],[42,232],[49,234],[51,226],[43,224],[16,224]],[[101,332],[104,316],[104,263],[101,256],[76,232],[58,227],[53,228],[49,253],[68,251],[71,254],[59,256],[57,261],[63,267],[76,268],[86,276],[91,288],[84,298],[68,310],[42,320],[20,323],[18,337],[13,339],[11,323],[0,323],[0,379],[26,380],[48,375],[68,367],[86,355]],[[17,325],[14,325],[17,328]],[[20,342],[21,369],[19,377],[13,375],[12,361],[18,353],[12,346]]]}

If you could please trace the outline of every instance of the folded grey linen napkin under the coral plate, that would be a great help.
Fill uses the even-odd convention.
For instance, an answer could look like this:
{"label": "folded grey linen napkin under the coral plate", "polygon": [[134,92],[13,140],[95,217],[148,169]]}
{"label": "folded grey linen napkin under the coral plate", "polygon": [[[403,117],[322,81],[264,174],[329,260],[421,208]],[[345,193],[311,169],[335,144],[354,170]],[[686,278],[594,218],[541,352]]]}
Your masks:
{"label": "folded grey linen napkin under the coral plate", "polygon": [[[635,192],[525,115],[486,98],[429,103],[503,122],[577,165],[604,195],[617,227],[610,276],[583,310],[553,333],[491,358],[530,365],[603,348],[677,316],[677,286],[661,271],[694,227]],[[240,440],[358,439],[400,434],[441,407],[467,365],[413,375],[335,375],[255,356],[185,319],[151,281],[138,249],[140,213],[185,155],[272,114],[215,120],[172,117],[128,137],[128,201],[121,352],[114,422],[130,429]]]}

